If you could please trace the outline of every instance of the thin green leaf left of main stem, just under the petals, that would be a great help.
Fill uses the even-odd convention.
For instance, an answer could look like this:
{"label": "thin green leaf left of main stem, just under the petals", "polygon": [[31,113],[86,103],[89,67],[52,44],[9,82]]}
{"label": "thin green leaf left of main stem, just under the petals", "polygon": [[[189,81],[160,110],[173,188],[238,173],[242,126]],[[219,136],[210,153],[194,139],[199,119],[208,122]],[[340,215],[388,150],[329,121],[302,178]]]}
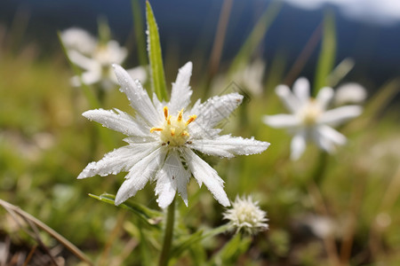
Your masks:
{"label": "thin green leaf left of main stem, just under the petals", "polygon": [[[100,196],[89,194],[89,196],[96,200],[101,200],[108,204],[115,205],[116,196],[113,194],[103,193]],[[147,223],[150,226],[155,226],[161,229],[160,222],[163,220],[163,213],[145,207],[136,202],[125,201],[124,203],[118,205],[118,207],[122,207],[132,211],[132,213],[138,215],[143,222]]]}

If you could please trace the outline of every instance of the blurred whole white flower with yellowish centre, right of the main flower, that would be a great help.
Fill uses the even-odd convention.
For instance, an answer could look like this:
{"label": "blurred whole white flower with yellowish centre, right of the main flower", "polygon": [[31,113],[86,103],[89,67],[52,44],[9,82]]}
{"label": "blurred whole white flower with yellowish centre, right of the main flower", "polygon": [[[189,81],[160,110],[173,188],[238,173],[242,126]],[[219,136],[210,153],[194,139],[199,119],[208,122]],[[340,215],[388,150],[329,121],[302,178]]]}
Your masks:
{"label": "blurred whole white flower with yellowish centre, right of the main flower", "polygon": [[344,145],[346,137],[332,129],[332,126],[360,115],[363,110],[361,106],[340,106],[327,110],[333,98],[332,88],[324,87],[316,98],[310,98],[306,78],[294,82],[293,93],[287,86],[279,85],[276,94],[292,114],[266,115],[263,121],[272,128],[287,128],[294,135],[292,160],[300,158],[310,139],[324,151],[333,153],[334,145]]}

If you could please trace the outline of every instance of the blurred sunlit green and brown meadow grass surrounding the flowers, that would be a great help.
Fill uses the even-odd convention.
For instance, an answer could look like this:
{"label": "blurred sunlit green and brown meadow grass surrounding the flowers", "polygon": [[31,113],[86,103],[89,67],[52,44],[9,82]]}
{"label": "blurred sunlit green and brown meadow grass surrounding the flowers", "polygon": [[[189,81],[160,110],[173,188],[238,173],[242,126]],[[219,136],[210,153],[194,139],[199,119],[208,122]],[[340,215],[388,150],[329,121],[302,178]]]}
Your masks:
{"label": "blurred sunlit green and brown meadow grass surrounding the flowers", "polygon": [[[252,80],[257,69],[241,77],[246,66],[260,59],[257,47],[273,13],[268,10],[260,17],[242,49],[223,67],[218,61],[212,68],[202,57],[185,59],[193,63],[192,104],[231,92],[244,95],[242,105],[220,124],[221,134],[271,144],[264,153],[232,159],[201,156],[225,181],[229,200],[252,195],[259,201],[267,212],[268,230],[254,235],[227,231],[226,208],[192,177],[188,207],[176,200],[170,265],[396,265],[400,125],[393,98],[400,78],[368,90],[359,104],[363,113],[337,128],[348,138],[346,145],[326,153],[309,144],[300,159],[291,160],[291,134],[268,127],[262,118],[288,113],[275,89],[283,83],[292,88],[299,76],[288,79],[284,59],[276,56],[258,69],[260,81]],[[332,78],[342,65],[334,57],[336,29],[329,16],[322,30],[315,79],[310,79],[314,95],[324,86],[335,90],[357,82],[346,77],[351,68]],[[130,52],[146,55],[145,29],[135,38],[143,45]],[[71,76],[82,70],[68,62],[61,44],[59,51],[44,56],[36,43],[14,42],[20,40],[0,27],[0,265],[155,265],[166,223],[155,184],[146,184],[116,207],[114,195],[126,173],[76,179],[89,162],[124,145],[123,134],[88,121],[82,113],[118,108],[133,114],[128,99],[118,85],[108,90],[72,86]],[[134,57],[141,66],[160,64]],[[170,95],[184,62],[165,51],[163,58]],[[123,66],[133,63],[127,60]],[[151,79],[148,74],[143,84],[149,92]],[[252,82],[260,82],[260,90]]]}

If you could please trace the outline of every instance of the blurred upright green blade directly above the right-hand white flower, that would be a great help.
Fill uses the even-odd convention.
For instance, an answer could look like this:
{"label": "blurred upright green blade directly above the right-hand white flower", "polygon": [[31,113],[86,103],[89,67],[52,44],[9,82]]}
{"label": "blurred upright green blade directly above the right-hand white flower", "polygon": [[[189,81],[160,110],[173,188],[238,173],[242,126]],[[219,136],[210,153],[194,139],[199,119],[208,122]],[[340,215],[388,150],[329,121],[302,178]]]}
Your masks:
{"label": "blurred upright green blade directly above the right-hand white flower", "polygon": [[333,14],[327,13],[324,18],[324,36],[321,43],[318,63],[316,65],[316,80],[314,82],[314,96],[320,89],[328,85],[328,76],[331,74],[336,56],[336,31]]}

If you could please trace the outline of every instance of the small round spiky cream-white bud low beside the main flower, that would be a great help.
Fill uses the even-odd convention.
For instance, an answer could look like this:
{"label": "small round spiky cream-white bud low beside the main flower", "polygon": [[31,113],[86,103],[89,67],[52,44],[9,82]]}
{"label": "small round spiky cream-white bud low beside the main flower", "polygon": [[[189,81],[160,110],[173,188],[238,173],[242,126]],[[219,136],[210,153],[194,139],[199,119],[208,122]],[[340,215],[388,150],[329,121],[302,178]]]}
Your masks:
{"label": "small round spiky cream-white bud low beside the main flower", "polygon": [[243,199],[236,196],[232,208],[228,208],[223,215],[236,232],[243,230],[253,235],[268,230],[267,213],[260,209],[258,201],[252,200],[252,196]]}

